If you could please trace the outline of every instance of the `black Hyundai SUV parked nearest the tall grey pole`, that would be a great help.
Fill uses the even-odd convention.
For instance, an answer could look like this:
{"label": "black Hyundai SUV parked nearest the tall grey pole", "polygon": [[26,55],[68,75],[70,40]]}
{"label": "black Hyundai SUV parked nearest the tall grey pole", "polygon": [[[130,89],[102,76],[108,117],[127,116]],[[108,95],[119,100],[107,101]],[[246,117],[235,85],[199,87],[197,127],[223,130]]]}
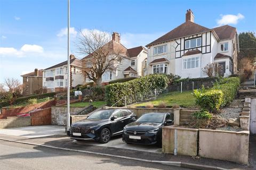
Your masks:
{"label": "black Hyundai SUV parked nearest the tall grey pole", "polygon": [[85,120],[71,124],[67,135],[71,139],[94,139],[107,143],[110,137],[122,134],[125,125],[134,122],[137,116],[127,109],[102,109]]}

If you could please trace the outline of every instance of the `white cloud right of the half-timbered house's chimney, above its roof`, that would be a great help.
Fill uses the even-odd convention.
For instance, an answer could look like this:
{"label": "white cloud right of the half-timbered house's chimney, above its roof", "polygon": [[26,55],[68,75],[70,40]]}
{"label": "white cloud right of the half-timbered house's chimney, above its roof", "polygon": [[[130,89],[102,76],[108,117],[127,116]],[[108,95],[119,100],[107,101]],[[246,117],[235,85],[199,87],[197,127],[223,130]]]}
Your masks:
{"label": "white cloud right of the half-timbered house's chimney, above its roof", "polygon": [[244,19],[244,15],[238,13],[237,15],[220,15],[221,19],[217,20],[218,25],[226,25],[226,24],[237,24],[239,20]]}

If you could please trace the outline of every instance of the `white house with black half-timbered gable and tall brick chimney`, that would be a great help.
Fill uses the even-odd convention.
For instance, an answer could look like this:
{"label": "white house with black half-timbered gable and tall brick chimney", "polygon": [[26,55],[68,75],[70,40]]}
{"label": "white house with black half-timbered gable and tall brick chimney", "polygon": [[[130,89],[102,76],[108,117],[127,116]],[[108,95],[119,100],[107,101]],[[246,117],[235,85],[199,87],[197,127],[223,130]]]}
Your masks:
{"label": "white house with black half-timbered gable and tall brick chimney", "polygon": [[202,69],[216,63],[219,75],[237,72],[239,52],[236,28],[209,29],[194,22],[189,9],[186,22],[147,45],[147,73],[178,74],[182,78],[207,77]]}

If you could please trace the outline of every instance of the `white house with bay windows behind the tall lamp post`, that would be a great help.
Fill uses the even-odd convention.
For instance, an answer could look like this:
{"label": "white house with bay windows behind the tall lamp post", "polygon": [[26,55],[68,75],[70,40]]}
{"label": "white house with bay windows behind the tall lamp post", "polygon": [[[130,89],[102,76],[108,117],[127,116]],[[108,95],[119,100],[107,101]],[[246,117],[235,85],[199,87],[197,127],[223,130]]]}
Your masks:
{"label": "white house with bay windows behind the tall lamp post", "polygon": [[[68,61],[53,65],[43,70],[43,87],[47,92],[62,92],[68,87]],[[70,55],[70,87],[84,84],[81,61]]]}

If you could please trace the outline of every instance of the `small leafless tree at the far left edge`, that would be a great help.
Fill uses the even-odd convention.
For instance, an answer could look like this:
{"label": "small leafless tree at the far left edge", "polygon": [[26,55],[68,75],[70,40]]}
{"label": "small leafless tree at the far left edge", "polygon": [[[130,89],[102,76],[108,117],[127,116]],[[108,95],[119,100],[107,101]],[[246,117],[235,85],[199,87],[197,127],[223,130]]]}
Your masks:
{"label": "small leafless tree at the far left edge", "polygon": [[[4,86],[7,87],[7,90],[4,88]],[[3,95],[5,99],[9,100],[10,105],[12,105],[17,97],[21,96],[22,94],[22,84],[18,79],[5,79],[4,85],[2,84],[2,88],[0,89],[0,91],[2,91],[1,95]]]}

